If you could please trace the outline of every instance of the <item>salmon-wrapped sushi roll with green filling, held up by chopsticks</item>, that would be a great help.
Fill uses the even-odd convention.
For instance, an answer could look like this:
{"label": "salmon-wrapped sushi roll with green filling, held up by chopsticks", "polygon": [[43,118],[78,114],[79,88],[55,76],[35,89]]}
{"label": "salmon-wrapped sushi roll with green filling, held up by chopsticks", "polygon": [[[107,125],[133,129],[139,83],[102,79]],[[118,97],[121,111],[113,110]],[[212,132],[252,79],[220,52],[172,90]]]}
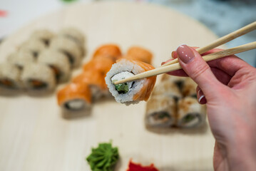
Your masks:
{"label": "salmon-wrapped sushi roll with green filling, held up by chopsticks", "polygon": [[118,103],[130,105],[131,103],[138,103],[140,100],[146,101],[155,86],[156,76],[118,85],[114,85],[113,82],[152,69],[154,67],[148,63],[122,58],[113,64],[111,70],[107,73],[106,84]]}

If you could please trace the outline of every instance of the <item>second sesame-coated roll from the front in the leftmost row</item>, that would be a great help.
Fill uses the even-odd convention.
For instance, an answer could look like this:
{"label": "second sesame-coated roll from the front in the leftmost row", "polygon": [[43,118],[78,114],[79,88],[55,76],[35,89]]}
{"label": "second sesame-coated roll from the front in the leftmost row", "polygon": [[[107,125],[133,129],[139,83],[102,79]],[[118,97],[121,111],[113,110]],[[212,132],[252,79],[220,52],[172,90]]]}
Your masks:
{"label": "second sesame-coated roll from the front in the leftmost row", "polygon": [[36,60],[31,52],[20,49],[8,56],[7,61],[22,70],[27,63],[34,63]]}

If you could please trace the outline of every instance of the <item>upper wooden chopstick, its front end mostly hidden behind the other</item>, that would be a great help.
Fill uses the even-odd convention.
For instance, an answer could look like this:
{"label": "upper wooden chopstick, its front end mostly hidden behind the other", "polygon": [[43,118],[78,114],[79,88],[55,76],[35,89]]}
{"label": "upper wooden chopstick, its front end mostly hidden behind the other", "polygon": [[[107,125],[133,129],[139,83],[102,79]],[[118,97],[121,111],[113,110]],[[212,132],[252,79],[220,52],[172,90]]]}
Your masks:
{"label": "upper wooden chopstick, its front end mostly hidden behind the other", "polygon": [[[226,36],[217,38],[217,40],[213,41],[213,43],[210,43],[208,46],[204,46],[202,48],[197,48],[196,51],[198,51],[198,53],[200,53],[200,54],[203,54],[207,51],[210,51],[213,48],[216,48],[217,46],[220,46],[224,43],[227,43],[228,41],[232,41],[233,39],[235,39],[239,36],[249,33],[250,31],[254,31],[255,29],[256,29],[256,21],[251,24],[248,24],[247,26],[244,26],[244,27],[238,29],[237,31],[233,31],[232,33],[229,33]],[[160,67],[168,66],[173,63],[178,63],[178,58],[175,58],[172,61],[169,61],[168,63],[165,63]]]}

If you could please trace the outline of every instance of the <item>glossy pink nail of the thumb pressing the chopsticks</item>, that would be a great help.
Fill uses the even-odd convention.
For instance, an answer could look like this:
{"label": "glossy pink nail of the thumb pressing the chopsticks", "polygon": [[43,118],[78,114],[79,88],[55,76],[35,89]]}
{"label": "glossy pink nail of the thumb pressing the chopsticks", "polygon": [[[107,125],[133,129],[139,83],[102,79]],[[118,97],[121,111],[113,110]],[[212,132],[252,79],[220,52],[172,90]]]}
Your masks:
{"label": "glossy pink nail of the thumb pressing the chopsticks", "polygon": [[194,53],[190,50],[187,45],[181,45],[177,49],[178,58],[183,61],[183,63],[189,63],[194,59]]}

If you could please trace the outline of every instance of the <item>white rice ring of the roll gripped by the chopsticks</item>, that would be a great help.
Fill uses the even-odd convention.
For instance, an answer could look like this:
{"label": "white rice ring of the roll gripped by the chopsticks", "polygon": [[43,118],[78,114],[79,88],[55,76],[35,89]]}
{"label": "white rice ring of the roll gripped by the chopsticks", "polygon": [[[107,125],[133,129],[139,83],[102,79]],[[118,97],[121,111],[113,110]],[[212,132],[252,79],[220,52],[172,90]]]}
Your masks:
{"label": "white rice ring of the roll gripped by the chopsticks", "polygon": [[141,68],[138,65],[135,65],[135,63],[132,63],[126,60],[125,58],[122,59],[121,61],[118,61],[118,63],[113,64],[111,70],[108,71],[106,75],[105,81],[109,88],[109,91],[111,92],[111,94],[114,96],[114,98],[118,103],[125,103],[126,105],[138,103],[139,100],[133,100],[133,96],[136,93],[138,93],[141,90],[141,88],[143,88],[143,85],[145,84],[146,79],[143,78],[141,80],[135,81],[135,83],[133,83],[133,86],[129,89],[128,93],[119,94],[118,91],[116,90],[115,85],[113,85],[111,78],[114,78],[114,76],[117,75],[118,73],[124,73],[124,74],[118,75],[116,76],[116,78],[123,78],[122,76],[128,76],[126,72],[130,72],[131,74],[135,75],[138,73],[142,73],[144,71],[145,70],[143,68]]}

